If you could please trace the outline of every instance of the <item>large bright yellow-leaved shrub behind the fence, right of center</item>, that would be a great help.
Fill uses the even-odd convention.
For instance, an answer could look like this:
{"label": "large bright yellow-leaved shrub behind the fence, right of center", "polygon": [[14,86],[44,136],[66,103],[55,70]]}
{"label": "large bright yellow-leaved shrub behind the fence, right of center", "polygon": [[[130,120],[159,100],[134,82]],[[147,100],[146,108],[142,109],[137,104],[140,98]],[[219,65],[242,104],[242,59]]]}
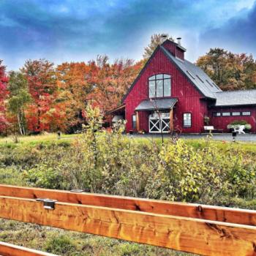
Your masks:
{"label": "large bright yellow-leaved shrub behind the fence, right of center", "polygon": [[148,197],[195,201],[213,194],[213,188],[222,188],[220,170],[212,166],[217,157],[214,149],[195,151],[183,140],[165,144],[159,153],[158,170],[146,187]]}

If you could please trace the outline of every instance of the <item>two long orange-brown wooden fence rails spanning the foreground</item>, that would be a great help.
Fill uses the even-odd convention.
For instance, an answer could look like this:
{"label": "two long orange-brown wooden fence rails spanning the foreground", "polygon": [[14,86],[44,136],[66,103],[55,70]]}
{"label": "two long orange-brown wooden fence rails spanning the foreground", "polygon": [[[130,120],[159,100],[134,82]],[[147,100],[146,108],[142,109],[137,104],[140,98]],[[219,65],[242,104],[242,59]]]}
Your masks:
{"label": "two long orange-brown wooden fence rails spanning the foreground", "polygon": [[[200,255],[256,255],[256,211],[244,209],[0,185],[0,217]],[[15,254],[0,245],[0,255]]]}

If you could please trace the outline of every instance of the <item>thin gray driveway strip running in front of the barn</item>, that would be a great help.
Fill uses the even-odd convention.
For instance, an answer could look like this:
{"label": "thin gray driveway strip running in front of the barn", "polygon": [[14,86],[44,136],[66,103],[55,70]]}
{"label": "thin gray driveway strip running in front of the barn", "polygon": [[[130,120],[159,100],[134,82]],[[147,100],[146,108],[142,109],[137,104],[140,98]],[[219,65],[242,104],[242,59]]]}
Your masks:
{"label": "thin gray driveway strip running in front of the barn", "polygon": [[[227,140],[232,141],[233,137],[231,133],[213,133],[213,140]],[[135,138],[161,138],[159,134],[145,134],[145,135],[129,135]],[[189,140],[198,140],[202,138],[206,138],[208,134],[181,134],[179,138],[189,139]],[[170,138],[170,135],[165,134],[164,138]],[[256,142],[256,134],[245,134],[245,135],[237,135],[237,141],[252,141]]]}

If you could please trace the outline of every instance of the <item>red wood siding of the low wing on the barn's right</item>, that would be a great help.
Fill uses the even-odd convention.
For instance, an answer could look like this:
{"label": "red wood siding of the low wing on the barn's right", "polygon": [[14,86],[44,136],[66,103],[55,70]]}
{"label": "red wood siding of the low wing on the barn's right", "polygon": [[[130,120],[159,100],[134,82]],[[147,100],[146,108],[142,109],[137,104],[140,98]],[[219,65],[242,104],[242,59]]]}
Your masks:
{"label": "red wood siding of the low wing on the barn's right", "polygon": [[[213,116],[214,112],[244,112],[250,111],[251,116]],[[256,108],[255,107],[244,107],[244,108],[214,108],[209,110],[209,117],[211,125],[216,129],[224,129],[225,132],[229,132],[227,124],[236,120],[245,120],[247,123],[252,125],[250,132],[256,132]]]}

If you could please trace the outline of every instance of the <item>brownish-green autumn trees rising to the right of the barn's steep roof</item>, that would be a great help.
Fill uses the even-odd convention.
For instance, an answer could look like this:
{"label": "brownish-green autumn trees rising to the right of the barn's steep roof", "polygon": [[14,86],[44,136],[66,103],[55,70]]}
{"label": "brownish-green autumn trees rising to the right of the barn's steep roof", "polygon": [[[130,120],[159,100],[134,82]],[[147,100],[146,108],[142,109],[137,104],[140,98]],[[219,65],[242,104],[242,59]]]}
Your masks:
{"label": "brownish-green autumn trees rising to the right of the barn's steep roof", "polygon": [[211,48],[196,64],[224,91],[256,88],[256,62],[252,55]]}

